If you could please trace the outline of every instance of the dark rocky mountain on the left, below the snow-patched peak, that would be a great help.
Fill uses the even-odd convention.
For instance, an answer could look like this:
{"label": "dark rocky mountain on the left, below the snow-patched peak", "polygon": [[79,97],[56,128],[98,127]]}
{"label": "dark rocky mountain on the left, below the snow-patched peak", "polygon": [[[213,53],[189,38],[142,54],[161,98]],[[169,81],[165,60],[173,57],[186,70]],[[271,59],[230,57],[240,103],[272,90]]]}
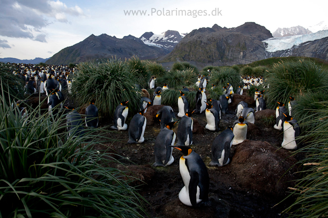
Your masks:
{"label": "dark rocky mountain on the left, below the snow-patched peak", "polygon": [[149,46],[134,36],[122,39],[107,34],[91,35],[85,40],[66,47],[56,53],[47,64],[69,64],[101,58],[130,58],[133,55],[140,59],[154,59],[168,54],[170,51],[162,47]]}

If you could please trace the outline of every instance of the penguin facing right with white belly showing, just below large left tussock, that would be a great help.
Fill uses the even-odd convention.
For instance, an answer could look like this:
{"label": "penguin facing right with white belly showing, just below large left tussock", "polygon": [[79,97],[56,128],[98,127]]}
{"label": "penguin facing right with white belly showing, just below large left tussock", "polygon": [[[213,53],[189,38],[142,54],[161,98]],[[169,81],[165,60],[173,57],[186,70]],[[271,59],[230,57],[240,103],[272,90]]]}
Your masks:
{"label": "penguin facing right with white belly showing, just below large left tussock", "polygon": [[111,126],[112,129],[118,131],[128,129],[128,125],[125,123],[125,120],[127,120],[129,113],[129,108],[127,106],[129,101],[123,101],[116,107],[113,119],[114,126]]}

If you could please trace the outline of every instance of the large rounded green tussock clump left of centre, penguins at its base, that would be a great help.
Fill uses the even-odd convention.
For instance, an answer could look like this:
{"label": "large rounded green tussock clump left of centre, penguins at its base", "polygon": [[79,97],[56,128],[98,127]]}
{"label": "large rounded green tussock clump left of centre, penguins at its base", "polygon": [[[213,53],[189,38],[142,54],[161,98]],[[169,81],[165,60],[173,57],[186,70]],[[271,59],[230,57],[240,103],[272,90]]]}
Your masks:
{"label": "large rounded green tussock clump left of centre, penguins at its base", "polygon": [[78,105],[95,99],[99,114],[112,117],[117,105],[128,101],[129,114],[137,112],[140,92],[136,80],[125,62],[109,60],[106,63],[80,63],[73,76],[72,95]]}

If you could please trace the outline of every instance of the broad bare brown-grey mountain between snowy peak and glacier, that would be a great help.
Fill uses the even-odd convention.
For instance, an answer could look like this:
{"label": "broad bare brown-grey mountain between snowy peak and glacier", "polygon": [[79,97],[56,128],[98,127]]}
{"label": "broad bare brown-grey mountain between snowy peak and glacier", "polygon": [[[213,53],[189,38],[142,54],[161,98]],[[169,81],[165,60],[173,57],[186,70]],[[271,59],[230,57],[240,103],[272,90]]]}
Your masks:
{"label": "broad bare brown-grey mountain between snowy peak and glacier", "polygon": [[264,39],[272,34],[254,22],[237,28],[200,28],[187,34],[162,61],[194,61],[213,65],[247,64],[265,56]]}

